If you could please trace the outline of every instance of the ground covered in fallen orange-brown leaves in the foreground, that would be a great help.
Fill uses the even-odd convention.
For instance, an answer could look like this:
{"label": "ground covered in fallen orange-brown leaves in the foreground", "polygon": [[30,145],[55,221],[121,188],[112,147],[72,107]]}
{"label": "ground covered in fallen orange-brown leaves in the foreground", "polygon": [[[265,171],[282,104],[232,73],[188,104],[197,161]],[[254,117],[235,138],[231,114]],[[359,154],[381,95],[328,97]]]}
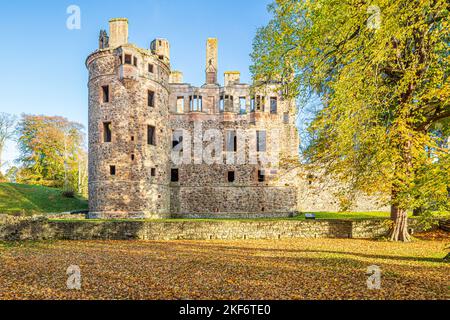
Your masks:
{"label": "ground covered in fallen orange-brown leaves in the foreground", "polygon": [[[0,244],[0,299],[448,299],[448,239]],[[66,270],[81,269],[80,291]],[[367,289],[367,267],[382,269]]]}

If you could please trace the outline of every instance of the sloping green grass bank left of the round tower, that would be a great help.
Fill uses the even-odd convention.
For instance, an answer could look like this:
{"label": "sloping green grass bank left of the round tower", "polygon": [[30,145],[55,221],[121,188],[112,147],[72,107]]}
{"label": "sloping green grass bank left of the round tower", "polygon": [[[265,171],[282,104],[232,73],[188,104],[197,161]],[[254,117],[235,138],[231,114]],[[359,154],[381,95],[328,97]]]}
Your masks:
{"label": "sloping green grass bank left of the round tower", "polygon": [[60,213],[87,208],[87,200],[64,198],[58,189],[0,183],[0,213]]}

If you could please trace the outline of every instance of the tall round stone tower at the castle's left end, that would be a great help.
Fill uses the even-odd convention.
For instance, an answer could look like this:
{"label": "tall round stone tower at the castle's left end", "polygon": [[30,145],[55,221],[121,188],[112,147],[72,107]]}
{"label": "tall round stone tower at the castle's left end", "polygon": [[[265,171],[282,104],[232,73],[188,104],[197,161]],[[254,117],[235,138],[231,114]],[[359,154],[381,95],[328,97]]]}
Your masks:
{"label": "tall round stone tower at the castle's left end", "polygon": [[167,218],[169,57],[127,39],[128,21],[111,20],[109,44],[86,61],[90,218]]}

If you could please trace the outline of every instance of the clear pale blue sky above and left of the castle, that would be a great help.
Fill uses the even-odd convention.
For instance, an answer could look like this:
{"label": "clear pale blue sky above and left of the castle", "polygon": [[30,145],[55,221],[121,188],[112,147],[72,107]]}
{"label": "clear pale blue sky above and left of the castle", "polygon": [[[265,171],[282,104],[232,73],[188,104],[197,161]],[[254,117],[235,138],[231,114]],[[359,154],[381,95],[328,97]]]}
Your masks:
{"label": "clear pale blue sky above and left of the castle", "polygon": [[[256,29],[270,16],[270,0],[4,1],[0,112],[61,115],[87,126],[86,57],[100,29],[114,17],[129,19],[130,42],[148,48],[157,37],[171,44],[172,68],[204,83],[205,41],[219,38],[219,72],[239,70],[250,80],[249,54]],[[81,29],[69,30],[67,8],[81,9]],[[222,82],[222,76],[220,77]],[[9,143],[4,160],[17,156]]]}

